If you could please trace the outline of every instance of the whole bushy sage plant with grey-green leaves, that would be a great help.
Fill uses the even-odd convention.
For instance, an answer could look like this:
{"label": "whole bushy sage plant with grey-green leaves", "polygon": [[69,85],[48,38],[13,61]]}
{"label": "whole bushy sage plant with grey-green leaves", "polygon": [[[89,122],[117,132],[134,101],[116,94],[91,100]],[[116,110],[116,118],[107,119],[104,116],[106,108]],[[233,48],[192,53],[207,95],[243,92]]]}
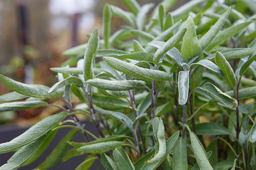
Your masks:
{"label": "whole bushy sage plant with grey-green leaves", "polygon": [[[122,0],[130,12],[105,5],[102,40],[96,28],[88,43],[66,50],[63,67],[51,69],[59,78],[51,88],[0,75],[14,91],[0,96],[1,112],[59,107],[49,98],[67,106],[0,144],[1,154],[16,151],[0,169],[38,159],[60,128],[72,130],[36,169],[84,154],[76,169],[96,159],[106,169],[254,169],[256,15],[243,13],[255,12],[255,3],[231,8],[233,1],[193,0],[167,12],[176,1],[164,0],[149,19],[152,3]],[[112,34],[112,17],[128,25]],[[72,97],[81,104],[73,107]],[[76,114],[88,117],[100,137]],[[84,143],[72,141],[76,133]]]}

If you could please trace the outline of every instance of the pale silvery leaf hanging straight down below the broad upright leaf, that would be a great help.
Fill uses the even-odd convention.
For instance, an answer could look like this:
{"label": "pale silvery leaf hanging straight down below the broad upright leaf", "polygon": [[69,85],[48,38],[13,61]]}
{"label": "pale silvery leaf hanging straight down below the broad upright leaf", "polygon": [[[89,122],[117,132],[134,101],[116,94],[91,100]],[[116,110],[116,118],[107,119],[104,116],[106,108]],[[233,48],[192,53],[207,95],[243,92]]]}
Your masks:
{"label": "pale silvery leaf hanging straight down below the broad upright leaf", "polygon": [[184,105],[188,101],[189,71],[180,71],[178,79],[179,104]]}

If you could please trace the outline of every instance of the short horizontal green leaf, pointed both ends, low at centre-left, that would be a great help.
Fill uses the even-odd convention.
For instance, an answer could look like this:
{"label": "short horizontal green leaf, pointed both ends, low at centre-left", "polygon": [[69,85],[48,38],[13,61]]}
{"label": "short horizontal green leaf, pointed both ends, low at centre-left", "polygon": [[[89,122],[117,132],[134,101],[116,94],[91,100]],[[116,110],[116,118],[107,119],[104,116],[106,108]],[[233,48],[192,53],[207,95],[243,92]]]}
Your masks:
{"label": "short horizontal green leaf, pointed both ends, low at centre-left", "polygon": [[101,142],[101,143],[94,143],[84,145],[82,147],[77,148],[77,151],[84,151],[86,153],[93,153],[93,154],[102,154],[104,152],[113,150],[119,146],[122,146],[125,142],[119,141],[109,141],[109,142]]}

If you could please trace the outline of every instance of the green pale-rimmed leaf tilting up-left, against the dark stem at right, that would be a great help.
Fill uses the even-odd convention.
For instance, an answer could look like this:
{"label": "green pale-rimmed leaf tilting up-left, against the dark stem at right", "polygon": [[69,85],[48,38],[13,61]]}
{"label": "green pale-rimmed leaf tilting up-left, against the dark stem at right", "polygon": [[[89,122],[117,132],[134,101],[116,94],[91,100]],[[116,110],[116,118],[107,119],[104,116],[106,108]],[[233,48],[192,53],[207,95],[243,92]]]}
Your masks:
{"label": "green pale-rimmed leaf tilting up-left, against the dark stem at right", "polygon": [[216,53],[215,62],[225,75],[225,78],[228,80],[231,87],[234,89],[237,84],[237,79],[232,67],[229,65],[229,62],[226,61],[226,58],[220,52]]}

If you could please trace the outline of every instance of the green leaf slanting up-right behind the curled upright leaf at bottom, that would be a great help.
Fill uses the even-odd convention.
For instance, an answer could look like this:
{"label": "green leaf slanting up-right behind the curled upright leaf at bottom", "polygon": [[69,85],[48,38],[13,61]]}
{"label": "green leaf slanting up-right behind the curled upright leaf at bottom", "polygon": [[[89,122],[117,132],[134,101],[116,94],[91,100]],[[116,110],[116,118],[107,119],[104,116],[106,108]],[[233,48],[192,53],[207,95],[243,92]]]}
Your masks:
{"label": "green leaf slanting up-right behind the curled upright leaf at bottom", "polygon": [[[163,157],[162,160],[160,160],[157,164],[146,164],[144,162],[144,157],[142,157],[141,159],[139,159],[134,166],[136,167],[136,169],[143,169],[143,170],[152,170],[152,169],[156,169],[159,167],[160,164],[163,163],[163,161],[167,158],[168,155],[171,154],[172,149],[174,148],[174,145],[179,137],[180,131],[177,131],[175,134],[173,134],[167,141],[166,141],[166,155]],[[150,152],[151,153],[151,152]],[[146,155],[145,155],[146,156]],[[149,156],[149,155],[147,155]],[[187,158],[187,156],[186,156]]]}

